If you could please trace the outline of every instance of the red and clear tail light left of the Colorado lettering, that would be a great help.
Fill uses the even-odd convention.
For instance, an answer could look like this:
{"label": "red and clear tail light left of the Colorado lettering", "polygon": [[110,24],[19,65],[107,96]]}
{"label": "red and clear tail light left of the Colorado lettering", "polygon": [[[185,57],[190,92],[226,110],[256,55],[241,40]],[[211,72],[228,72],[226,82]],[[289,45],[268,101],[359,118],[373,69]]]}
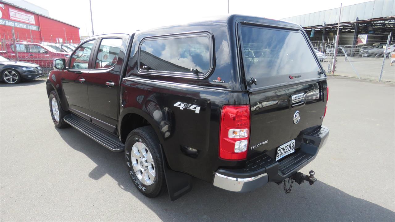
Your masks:
{"label": "red and clear tail light left of the Colorado lettering", "polygon": [[247,157],[250,106],[228,106],[221,110],[219,157],[239,160]]}

